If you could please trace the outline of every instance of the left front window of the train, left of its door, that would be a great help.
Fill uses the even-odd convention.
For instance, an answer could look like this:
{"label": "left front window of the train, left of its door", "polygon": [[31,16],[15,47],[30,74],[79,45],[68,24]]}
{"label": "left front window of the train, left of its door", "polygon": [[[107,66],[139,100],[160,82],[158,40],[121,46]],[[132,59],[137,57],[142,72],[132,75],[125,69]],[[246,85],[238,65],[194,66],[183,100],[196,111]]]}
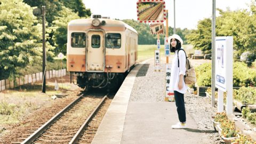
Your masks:
{"label": "left front window of the train, left of its door", "polygon": [[72,33],[71,34],[72,47],[85,47],[85,33]]}

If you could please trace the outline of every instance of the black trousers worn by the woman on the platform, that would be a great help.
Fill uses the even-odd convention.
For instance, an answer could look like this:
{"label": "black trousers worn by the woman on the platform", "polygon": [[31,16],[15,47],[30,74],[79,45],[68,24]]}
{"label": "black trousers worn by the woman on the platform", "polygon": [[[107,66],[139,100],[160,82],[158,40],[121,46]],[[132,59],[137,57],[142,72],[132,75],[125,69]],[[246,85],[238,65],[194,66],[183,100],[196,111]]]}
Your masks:
{"label": "black trousers worn by the woman on the platform", "polygon": [[174,91],[174,99],[180,122],[186,122],[184,94]]}

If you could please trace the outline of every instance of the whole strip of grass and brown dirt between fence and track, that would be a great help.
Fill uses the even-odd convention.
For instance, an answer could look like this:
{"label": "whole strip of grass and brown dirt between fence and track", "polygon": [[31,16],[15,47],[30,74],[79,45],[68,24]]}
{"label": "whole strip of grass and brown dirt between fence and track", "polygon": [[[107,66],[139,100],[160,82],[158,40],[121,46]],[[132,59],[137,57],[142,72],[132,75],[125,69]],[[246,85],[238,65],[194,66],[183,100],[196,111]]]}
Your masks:
{"label": "whole strip of grass and brown dirt between fence and track", "polygon": [[[59,90],[54,90],[55,81]],[[42,93],[42,82],[0,92],[0,143],[20,141],[18,138],[27,127],[47,122],[49,119],[43,118],[54,116],[82,91],[77,85],[70,84],[70,76],[64,76],[46,79],[46,93]]]}

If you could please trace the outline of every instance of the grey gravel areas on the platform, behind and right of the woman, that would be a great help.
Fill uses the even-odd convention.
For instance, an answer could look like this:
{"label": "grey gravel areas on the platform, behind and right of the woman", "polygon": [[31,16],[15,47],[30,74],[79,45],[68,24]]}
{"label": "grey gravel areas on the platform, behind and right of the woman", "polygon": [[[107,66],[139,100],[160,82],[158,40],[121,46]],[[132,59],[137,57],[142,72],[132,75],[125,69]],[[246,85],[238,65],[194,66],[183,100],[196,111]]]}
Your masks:
{"label": "grey gravel areas on the platform, behind and right of the woman", "polygon": [[[134,81],[130,101],[132,102],[163,102],[165,87],[165,64],[161,71],[154,71],[154,59],[142,65]],[[195,120],[198,131],[207,143],[221,143],[218,132],[214,131],[212,116],[217,112],[211,106],[211,100],[194,94],[185,93],[185,107],[187,115]],[[175,111],[175,113],[177,113]],[[178,115],[178,114],[177,114]],[[171,127],[170,127],[171,129]]]}

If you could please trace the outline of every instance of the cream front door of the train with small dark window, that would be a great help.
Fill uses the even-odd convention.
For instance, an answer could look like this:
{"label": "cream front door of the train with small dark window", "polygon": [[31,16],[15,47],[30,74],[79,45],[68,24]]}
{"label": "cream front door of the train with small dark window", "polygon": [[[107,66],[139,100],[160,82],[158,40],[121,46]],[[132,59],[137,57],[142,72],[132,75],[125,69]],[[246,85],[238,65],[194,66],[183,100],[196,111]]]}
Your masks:
{"label": "cream front door of the train with small dark window", "polygon": [[105,43],[103,31],[89,31],[87,38],[86,70],[104,71]]}

